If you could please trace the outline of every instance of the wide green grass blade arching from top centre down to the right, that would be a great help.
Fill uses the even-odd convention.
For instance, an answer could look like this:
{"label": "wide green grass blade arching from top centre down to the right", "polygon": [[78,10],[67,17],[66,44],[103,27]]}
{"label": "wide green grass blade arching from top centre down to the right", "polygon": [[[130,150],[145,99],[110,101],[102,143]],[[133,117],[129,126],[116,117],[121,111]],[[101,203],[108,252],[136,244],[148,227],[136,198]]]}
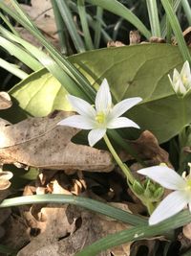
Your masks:
{"label": "wide green grass blade arching from top centre down to the right", "polygon": [[138,29],[138,31],[146,38],[149,39],[151,37],[151,33],[138,19],[138,17],[121,3],[119,3],[117,0],[86,0],[86,2],[92,5],[99,6],[109,12],[113,12],[120,17],[123,17],[124,19],[132,23]]}

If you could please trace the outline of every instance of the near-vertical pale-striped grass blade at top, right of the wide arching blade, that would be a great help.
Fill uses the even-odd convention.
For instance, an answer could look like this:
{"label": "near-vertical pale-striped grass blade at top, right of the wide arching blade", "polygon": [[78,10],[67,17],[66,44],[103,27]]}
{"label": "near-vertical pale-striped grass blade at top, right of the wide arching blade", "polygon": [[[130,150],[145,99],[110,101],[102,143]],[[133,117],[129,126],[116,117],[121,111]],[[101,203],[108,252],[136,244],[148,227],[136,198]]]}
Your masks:
{"label": "near-vertical pale-striped grass blade at top, right of the wide arching blade", "polygon": [[159,13],[156,0],[146,0],[147,10],[149,13],[149,20],[151,25],[151,32],[153,36],[161,36],[159,27]]}

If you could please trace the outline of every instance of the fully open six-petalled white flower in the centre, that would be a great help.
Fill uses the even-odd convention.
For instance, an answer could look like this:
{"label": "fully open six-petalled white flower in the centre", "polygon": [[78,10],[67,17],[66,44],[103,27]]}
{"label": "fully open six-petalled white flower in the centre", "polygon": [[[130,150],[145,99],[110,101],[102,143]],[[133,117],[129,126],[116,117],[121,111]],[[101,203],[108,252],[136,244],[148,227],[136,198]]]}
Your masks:
{"label": "fully open six-petalled white flower in the centre", "polygon": [[107,128],[139,128],[132,120],[119,116],[137,105],[142,99],[139,97],[130,98],[112,106],[112,96],[106,79],[102,81],[96,93],[96,109],[93,105],[72,95],[68,95],[68,99],[79,115],[63,119],[58,125],[92,129],[88,134],[91,147],[105,135]]}

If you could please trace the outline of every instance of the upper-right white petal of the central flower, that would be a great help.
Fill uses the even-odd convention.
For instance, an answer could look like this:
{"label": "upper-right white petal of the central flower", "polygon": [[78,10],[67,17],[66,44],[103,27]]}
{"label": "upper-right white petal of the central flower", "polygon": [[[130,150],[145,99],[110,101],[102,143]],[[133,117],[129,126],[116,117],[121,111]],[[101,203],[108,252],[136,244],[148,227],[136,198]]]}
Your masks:
{"label": "upper-right white petal of the central flower", "polygon": [[134,105],[137,105],[141,101],[142,101],[142,99],[139,98],[139,97],[125,99],[125,100],[119,102],[117,105],[114,106],[114,108],[112,109],[110,115],[111,115],[112,118],[119,117],[124,112],[126,112],[128,109],[130,109]]}

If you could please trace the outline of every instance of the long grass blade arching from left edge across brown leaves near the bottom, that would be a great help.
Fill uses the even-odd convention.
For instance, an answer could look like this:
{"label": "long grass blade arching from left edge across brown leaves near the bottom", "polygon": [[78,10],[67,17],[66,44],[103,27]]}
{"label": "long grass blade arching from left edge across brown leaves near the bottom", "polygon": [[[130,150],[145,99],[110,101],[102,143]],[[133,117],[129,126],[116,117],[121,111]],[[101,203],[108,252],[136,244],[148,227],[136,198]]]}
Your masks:
{"label": "long grass blade arching from left edge across brown leaves near the bottom", "polygon": [[96,213],[106,215],[117,221],[123,221],[133,225],[141,225],[147,222],[142,217],[130,214],[126,211],[120,210],[116,207],[110,206],[103,202],[96,201],[94,199],[65,195],[52,194],[9,198],[3,200],[0,203],[0,208],[37,203],[71,203],[89,209],[91,211],[95,211]]}

